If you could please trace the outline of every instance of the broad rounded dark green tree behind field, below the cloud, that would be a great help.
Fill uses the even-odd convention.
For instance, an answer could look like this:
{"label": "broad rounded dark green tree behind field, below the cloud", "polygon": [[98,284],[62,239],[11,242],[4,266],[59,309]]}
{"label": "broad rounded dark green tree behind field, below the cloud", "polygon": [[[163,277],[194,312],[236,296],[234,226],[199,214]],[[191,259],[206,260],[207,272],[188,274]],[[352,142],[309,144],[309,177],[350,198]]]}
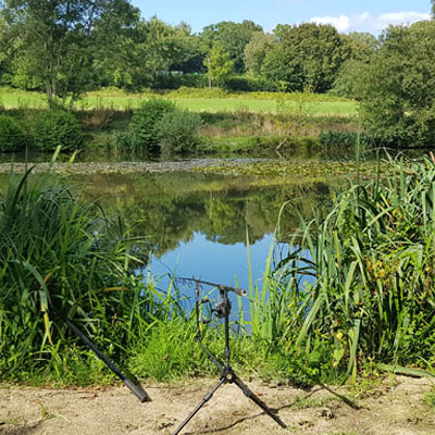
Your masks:
{"label": "broad rounded dark green tree behind field, below the cloud", "polygon": [[341,39],[330,25],[304,23],[278,25],[274,29],[277,44],[262,65],[262,74],[286,90],[316,92],[328,90],[343,63]]}

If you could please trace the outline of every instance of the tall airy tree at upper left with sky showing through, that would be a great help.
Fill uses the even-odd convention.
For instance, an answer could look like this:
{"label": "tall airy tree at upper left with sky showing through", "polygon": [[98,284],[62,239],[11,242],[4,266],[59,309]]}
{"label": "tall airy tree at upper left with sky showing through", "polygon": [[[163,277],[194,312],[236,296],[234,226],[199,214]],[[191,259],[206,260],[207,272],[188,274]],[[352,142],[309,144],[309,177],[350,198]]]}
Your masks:
{"label": "tall airy tree at upper left with sky showing through", "polygon": [[123,28],[121,11],[137,15],[128,0],[4,1],[1,15],[8,36],[20,48],[15,59],[44,83],[49,108],[54,101],[71,108],[92,83],[96,48],[105,50],[113,42],[100,38],[107,44],[96,46],[94,37],[108,25],[111,32]]}

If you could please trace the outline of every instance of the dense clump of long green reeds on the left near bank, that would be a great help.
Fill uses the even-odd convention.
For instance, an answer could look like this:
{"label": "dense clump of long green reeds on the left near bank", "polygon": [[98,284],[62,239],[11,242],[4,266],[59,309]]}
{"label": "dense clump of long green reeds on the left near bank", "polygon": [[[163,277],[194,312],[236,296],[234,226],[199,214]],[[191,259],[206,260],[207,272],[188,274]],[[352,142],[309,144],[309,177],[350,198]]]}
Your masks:
{"label": "dense clump of long green reeds on the left near bank", "polygon": [[60,380],[83,344],[53,307],[103,349],[112,343],[109,353],[116,357],[153,302],[130,273],[135,246],[101,209],[80,202],[50,174],[30,181],[30,171],[11,175],[0,202],[0,373]]}

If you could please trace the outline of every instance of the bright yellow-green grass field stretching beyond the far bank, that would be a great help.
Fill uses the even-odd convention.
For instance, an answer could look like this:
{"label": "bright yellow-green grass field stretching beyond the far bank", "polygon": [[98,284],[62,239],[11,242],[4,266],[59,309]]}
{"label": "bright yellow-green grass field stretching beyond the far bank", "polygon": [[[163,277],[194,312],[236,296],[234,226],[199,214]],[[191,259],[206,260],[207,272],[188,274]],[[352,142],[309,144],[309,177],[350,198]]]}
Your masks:
{"label": "bright yellow-green grass field stretching beyond the far bank", "polygon": [[[201,89],[202,90],[202,89]],[[197,92],[198,94],[198,92]],[[144,100],[161,94],[124,94],[122,91],[111,92],[89,92],[76,103],[78,110],[91,109],[117,109],[127,110],[137,108]],[[246,94],[222,94],[222,92],[202,92],[204,97],[189,95],[188,92],[172,91],[163,95],[164,98],[176,101],[182,108],[189,109],[195,112],[234,112],[237,110],[246,110],[249,112],[274,112],[276,110],[276,101],[274,95],[270,92]],[[213,95],[212,97],[208,97]],[[275,98],[284,98],[288,105],[297,107],[295,95],[276,94]],[[262,97],[264,99],[262,99]],[[17,89],[0,89],[0,104],[7,109],[42,109],[46,107],[46,96],[39,92],[23,91]],[[358,112],[358,104],[351,100],[344,100],[328,96],[314,96],[314,101],[309,103],[309,110],[313,114],[330,115],[352,115]]]}

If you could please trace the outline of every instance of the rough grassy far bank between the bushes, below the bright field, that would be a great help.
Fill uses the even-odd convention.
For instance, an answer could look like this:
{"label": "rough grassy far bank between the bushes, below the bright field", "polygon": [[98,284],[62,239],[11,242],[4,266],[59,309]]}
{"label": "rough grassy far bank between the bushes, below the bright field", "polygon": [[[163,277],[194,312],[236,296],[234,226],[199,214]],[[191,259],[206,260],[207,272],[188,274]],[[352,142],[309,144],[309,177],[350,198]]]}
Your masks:
{"label": "rough grassy far bank between the bushes, below the bright field", "polygon": [[[223,100],[224,101],[224,100]],[[41,109],[17,108],[4,110],[2,114],[13,117],[22,126],[28,138],[32,151],[35,146],[30,138],[45,112]],[[134,111],[96,109],[74,112],[78,120],[84,141],[85,154],[95,158],[119,156],[130,159],[134,156],[128,144],[119,138],[130,134],[130,122]],[[276,156],[275,149],[286,152],[321,151],[319,135],[322,132],[355,134],[358,130],[358,119],[353,116],[304,116],[301,121],[297,112],[259,113],[246,109],[235,112],[202,112],[202,125],[198,130],[200,146],[198,154],[257,157]],[[336,147],[333,147],[336,148]],[[349,147],[347,147],[349,148]],[[147,147],[136,147],[136,158],[144,158]]]}

